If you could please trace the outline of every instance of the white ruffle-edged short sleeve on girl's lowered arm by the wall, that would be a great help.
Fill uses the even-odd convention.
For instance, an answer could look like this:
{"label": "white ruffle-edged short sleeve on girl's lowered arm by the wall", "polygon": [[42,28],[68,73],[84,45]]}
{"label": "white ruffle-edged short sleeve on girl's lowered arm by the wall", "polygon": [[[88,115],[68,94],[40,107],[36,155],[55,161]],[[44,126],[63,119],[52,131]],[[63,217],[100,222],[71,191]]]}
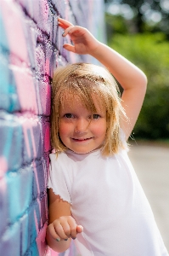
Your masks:
{"label": "white ruffle-edged short sleeve on girl's lowered arm by the wall", "polygon": [[70,179],[64,168],[64,160],[50,154],[50,165],[48,173],[48,189],[53,189],[55,195],[59,195],[63,201],[71,203],[70,199]]}

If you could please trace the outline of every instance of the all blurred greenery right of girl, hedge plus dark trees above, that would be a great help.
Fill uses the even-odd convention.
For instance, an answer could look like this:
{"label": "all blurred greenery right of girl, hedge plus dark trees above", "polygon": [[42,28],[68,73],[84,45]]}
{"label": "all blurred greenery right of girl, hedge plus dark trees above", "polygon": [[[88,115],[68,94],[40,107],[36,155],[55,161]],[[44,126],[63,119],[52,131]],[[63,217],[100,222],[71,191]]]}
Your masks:
{"label": "all blurred greenery right of girl, hedge plus dark trees above", "polygon": [[169,145],[169,0],[105,0],[108,44],[148,78],[133,137]]}

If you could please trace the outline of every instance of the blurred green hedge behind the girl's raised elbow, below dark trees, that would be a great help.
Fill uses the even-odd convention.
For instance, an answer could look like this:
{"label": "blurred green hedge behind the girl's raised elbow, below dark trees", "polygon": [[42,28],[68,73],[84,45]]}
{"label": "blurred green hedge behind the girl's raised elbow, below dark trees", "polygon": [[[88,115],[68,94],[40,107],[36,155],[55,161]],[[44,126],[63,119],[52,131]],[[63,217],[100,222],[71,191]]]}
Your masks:
{"label": "blurred green hedge behind the girl's raised elbow, below dark trees", "polygon": [[140,67],[148,77],[144,106],[134,137],[169,137],[169,44],[163,33],[115,34],[110,47]]}

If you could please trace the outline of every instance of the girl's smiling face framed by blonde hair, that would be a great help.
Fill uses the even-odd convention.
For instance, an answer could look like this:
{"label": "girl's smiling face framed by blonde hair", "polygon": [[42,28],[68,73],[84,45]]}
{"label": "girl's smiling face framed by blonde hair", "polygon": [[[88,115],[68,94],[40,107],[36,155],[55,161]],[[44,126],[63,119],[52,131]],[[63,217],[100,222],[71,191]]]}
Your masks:
{"label": "girl's smiling face framed by blonde hair", "polygon": [[68,102],[59,111],[59,137],[67,148],[77,154],[86,154],[104,143],[106,113],[93,98],[97,113],[92,116],[80,100]]}

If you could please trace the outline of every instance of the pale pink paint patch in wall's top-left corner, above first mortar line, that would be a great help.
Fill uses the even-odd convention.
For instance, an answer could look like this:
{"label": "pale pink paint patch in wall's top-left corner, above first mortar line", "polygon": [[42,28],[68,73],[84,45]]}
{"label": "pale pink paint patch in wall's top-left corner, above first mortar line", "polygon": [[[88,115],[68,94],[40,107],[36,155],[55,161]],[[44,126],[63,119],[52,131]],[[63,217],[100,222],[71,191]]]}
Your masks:
{"label": "pale pink paint patch in wall's top-left corner, above first mortar line", "polygon": [[29,63],[23,29],[25,22],[20,8],[14,1],[1,1],[1,9],[10,51]]}

